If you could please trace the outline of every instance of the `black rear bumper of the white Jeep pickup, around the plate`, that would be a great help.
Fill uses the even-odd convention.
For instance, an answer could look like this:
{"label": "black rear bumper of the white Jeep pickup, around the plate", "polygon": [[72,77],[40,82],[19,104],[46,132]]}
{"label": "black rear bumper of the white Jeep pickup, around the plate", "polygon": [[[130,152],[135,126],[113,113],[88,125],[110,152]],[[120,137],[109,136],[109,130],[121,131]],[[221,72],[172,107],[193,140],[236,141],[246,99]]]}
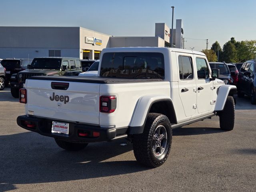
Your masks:
{"label": "black rear bumper of the white Jeep pickup, around the plate", "polygon": [[[69,124],[69,134],[58,134],[52,133],[52,121],[64,122]],[[25,122],[33,124],[33,127],[28,127]],[[41,135],[60,138],[68,142],[77,142],[77,143],[89,143],[89,142],[100,142],[100,141],[111,141],[116,138],[126,138],[125,133],[128,128],[102,128],[100,126],[93,126],[88,124],[78,124],[74,122],[67,122],[63,120],[53,120],[47,118],[37,118],[32,116],[18,116],[17,124],[33,132],[37,132]],[[88,133],[87,136],[79,136],[78,133]],[[94,137],[93,132],[98,132],[100,136]],[[121,137],[120,137],[121,136]],[[127,136],[127,135],[126,135]]]}

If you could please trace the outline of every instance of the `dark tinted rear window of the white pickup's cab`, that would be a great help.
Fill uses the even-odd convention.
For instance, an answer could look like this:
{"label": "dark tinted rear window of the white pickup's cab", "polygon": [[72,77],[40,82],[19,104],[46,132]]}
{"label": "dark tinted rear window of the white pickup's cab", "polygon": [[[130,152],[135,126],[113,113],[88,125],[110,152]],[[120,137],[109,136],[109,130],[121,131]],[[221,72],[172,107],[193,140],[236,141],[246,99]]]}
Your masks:
{"label": "dark tinted rear window of the white pickup's cab", "polygon": [[164,79],[164,55],[153,52],[112,52],[102,56],[100,76]]}

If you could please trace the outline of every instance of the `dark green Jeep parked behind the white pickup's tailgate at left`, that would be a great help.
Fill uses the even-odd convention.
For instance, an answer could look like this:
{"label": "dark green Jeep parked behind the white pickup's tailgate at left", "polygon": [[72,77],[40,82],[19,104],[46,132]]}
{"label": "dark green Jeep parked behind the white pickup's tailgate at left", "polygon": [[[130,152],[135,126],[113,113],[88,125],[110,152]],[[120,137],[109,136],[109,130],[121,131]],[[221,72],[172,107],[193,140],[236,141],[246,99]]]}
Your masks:
{"label": "dark green Jeep parked behind the white pickup's tailgate at left", "polygon": [[11,93],[14,98],[18,98],[19,89],[24,87],[26,79],[31,76],[78,76],[80,72],[82,65],[79,58],[34,58],[27,70],[12,75]]}

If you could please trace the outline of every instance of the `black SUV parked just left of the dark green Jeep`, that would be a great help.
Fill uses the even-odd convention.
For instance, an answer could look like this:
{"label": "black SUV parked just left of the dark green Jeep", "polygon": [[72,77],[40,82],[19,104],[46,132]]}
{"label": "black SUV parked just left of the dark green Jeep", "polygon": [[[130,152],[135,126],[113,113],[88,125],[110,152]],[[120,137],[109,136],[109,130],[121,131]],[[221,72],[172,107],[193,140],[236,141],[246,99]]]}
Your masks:
{"label": "black SUV parked just left of the dark green Jeep", "polygon": [[32,59],[3,59],[1,61],[2,66],[6,69],[6,82],[8,85],[10,83],[10,79],[12,74],[16,74],[22,70],[26,70],[28,64],[31,64]]}

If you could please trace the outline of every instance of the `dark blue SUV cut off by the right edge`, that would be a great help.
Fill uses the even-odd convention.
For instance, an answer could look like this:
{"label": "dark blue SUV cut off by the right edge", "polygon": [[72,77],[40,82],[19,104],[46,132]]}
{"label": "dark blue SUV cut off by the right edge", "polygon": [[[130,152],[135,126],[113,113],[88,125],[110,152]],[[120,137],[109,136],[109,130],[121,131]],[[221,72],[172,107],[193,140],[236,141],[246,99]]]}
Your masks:
{"label": "dark blue SUV cut off by the right edge", "polygon": [[256,60],[246,61],[238,75],[237,95],[243,97],[244,94],[250,96],[251,103],[256,104]]}

